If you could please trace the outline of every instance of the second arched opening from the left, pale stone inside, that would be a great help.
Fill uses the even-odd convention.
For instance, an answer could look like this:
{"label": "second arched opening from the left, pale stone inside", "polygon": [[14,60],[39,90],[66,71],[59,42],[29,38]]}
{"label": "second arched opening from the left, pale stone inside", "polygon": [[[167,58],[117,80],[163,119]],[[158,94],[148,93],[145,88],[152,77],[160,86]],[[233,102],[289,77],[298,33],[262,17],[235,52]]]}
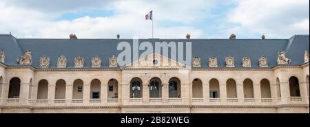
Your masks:
{"label": "second arched opening from the left, pale stone inside", "polygon": [[38,83],[37,100],[47,100],[47,99],[48,99],[48,81],[40,80]]}

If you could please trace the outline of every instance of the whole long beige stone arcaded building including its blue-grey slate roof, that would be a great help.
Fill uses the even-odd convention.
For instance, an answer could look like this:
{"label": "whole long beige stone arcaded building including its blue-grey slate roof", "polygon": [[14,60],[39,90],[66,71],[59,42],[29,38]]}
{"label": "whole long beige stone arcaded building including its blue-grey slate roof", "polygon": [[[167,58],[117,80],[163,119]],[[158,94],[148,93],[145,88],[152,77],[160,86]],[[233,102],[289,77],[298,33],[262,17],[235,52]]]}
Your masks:
{"label": "whole long beige stone arcaded building including its blue-grey slate roof", "polygon": [[141,40],[191,41],[191,67],[119,67],[120,41],[0,34],[0,113],[309,113],[309,35]]}

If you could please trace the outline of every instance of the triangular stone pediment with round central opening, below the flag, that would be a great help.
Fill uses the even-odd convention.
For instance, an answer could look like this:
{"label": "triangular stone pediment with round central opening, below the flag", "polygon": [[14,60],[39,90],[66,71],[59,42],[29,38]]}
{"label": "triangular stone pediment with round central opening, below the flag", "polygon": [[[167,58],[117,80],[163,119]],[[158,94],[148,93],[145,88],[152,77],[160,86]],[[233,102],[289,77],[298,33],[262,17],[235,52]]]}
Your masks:
{"label": "triangular stone pediment with round central opening, below the flag", "polygon": [[128,65],[121,67],[122,69],[134,69],[134,68],[145,68],[145,69],[171,69],[171,68],[179,68],[184,69],[188,68],[187,66],[177,62],[176,60],[172,60],[160,54],[149,54],[147,57],[140,58]]}

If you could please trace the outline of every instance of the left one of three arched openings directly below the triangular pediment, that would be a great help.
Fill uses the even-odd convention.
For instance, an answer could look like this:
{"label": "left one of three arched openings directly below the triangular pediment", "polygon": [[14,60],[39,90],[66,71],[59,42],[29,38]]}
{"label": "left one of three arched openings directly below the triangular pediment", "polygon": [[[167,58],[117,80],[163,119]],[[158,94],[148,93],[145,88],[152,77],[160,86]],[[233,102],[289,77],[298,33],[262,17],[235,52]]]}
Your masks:
{"label": "left one of three arched openings directly below the triangular pediment", "polygon": [[140,78],[133,78],[130,81],[130,97],[142,98],[143,97],[143,84]]}

